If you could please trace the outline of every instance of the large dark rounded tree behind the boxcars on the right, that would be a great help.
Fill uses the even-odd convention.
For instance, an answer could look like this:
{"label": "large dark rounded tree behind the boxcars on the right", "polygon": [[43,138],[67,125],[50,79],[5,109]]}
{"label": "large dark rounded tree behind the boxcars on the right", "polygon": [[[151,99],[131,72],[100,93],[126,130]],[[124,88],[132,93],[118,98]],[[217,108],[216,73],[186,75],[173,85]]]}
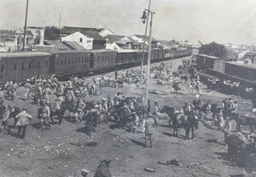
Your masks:
{"label": "large dark rounded tree behind the boxcars on the right", "polygon": [[226,58],[227,51],[224,45],[215,42],[202,45],[201,49],[199,49],[200,54],[212,55],[219,58]]}

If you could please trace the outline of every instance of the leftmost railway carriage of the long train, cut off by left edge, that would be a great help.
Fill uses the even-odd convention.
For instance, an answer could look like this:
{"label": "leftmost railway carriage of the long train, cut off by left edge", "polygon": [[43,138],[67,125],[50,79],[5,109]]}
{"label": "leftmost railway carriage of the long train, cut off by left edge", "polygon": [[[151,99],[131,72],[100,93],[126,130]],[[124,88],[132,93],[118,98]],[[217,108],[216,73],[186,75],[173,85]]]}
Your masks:
{"label": "leftmost railway carriage of the long train, cut off by left edge", "polygon": [[50,56],[46,52],[0,53],[0,84],[5,84],[9,78],[15,83],[25,82],[34,72],[47,75]]}

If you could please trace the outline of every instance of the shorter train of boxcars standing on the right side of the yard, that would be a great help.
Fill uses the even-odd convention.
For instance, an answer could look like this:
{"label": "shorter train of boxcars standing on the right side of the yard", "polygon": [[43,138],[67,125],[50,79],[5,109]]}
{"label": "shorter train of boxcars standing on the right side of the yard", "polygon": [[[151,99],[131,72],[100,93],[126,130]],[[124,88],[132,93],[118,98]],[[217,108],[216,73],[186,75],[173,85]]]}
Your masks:
{"label": "shorter train of boxcars standing on the right side of the yard", "polygon": [[195,62],[200,70],[215,71],[222,73],[223,77],[232,76],[249,83],[256,83],[256,66],[241,61],[227,61],[207,54],[198,54]]}

